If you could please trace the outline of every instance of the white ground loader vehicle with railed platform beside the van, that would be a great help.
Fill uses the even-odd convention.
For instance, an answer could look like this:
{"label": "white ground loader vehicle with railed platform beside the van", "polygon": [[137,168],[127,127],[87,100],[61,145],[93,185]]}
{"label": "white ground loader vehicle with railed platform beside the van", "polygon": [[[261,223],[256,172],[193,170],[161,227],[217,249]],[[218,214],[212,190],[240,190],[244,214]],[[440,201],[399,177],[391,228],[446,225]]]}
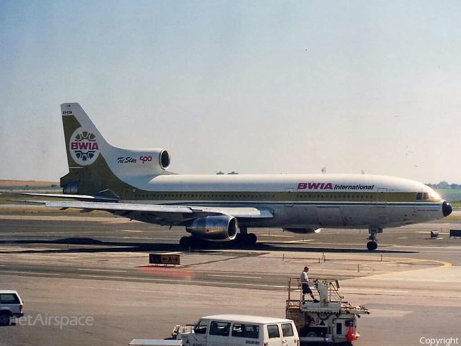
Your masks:
{"label": "white ground loader vehicle with railed platform beside the van", "polygon": [[344,301],[339,293],[340,284],[337,279],[317,278],[311,282],[309,286],[312,292],[320,296],[318,302],[301,299],[298,277],[290,277],[288,280],[285,317],[295,321],[301,343],[352,342],[360,337],[357,317],[369,315],[368,309]]}

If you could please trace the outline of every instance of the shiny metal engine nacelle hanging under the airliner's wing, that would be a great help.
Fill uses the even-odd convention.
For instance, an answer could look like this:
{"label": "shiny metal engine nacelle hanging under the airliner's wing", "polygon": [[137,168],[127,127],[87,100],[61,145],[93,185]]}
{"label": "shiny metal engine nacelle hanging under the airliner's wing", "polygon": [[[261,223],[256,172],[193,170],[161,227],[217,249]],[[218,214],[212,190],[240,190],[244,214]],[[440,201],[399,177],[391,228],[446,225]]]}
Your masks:
{"label": "shiny metal engine nacelle hanging under the airliner's wing", "polygon": [[230,215],[200,217],[186,227],[193,236],[210,241],[234,240],[237,236],[237,219]]}

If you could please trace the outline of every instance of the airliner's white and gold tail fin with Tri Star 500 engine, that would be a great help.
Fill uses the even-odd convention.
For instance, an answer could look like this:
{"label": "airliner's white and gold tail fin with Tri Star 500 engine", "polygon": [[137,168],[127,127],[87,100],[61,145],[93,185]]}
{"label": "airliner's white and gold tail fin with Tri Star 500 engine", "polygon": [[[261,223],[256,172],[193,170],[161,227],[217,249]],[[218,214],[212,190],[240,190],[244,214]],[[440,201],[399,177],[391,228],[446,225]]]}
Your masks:
{"label": "airliner's white and gold tail fin with Tri Star 500 engine", "polygon": [[78,103],[61,105],[69,173],[61,177],[65,194],[97,195],[143,185],[156,175],[171,174],[163,149],[122,149],[108,143]]}

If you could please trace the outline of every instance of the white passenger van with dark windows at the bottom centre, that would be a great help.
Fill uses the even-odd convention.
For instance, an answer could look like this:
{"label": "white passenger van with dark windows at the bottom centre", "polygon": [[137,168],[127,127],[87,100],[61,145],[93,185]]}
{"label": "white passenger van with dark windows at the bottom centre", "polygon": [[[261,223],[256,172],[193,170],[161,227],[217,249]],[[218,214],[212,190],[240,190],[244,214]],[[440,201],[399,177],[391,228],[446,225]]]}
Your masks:
{"label": "white passenger van with dark windows at the bottom centre", "polygon": [[249,315],[204,316],[177,338],[184,346],[299,346],[292,320]]}

